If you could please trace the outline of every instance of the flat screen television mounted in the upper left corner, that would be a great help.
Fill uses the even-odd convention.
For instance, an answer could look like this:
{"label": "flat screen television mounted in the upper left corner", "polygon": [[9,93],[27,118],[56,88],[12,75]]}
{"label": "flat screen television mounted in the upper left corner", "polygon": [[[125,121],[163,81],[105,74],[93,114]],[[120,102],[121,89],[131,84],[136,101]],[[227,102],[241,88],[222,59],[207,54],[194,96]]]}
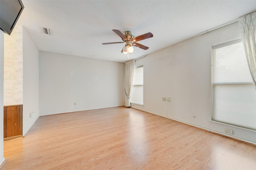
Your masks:
{"label": "flat screen television mounted in the upper left corner", "polygon": [[23,9],[21,0],[0,0],[0,29],[4,33],[12,33]]}

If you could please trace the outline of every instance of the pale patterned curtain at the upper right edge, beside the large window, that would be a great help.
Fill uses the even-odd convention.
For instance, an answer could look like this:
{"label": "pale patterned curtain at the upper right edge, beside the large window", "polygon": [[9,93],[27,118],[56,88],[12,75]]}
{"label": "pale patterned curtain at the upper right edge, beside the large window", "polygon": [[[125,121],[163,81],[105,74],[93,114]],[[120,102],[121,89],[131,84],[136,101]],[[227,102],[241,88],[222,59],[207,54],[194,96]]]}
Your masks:
{"label": "pale patterned curtain at the upper right edge, beside the large window", "polygon": [[239,18],[238,24],[252,80],[256,87],[256,12]]}

